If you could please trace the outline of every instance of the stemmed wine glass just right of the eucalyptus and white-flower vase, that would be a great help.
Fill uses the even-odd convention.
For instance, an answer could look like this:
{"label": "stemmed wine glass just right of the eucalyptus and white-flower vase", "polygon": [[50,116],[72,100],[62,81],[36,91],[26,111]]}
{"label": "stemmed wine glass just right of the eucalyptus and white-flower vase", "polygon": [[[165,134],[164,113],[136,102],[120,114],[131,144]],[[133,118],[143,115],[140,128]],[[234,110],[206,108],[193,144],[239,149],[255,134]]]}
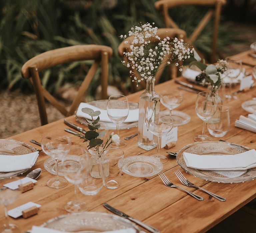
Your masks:
{"label": "stemmed wine glass just right of the eucalyptus and white-flower vase", "polygon": [[236,96],[231,94],[231,85],[232,81],[235,80],[241,73],[242,70],[242,60],[235,57],[227,57],[227,70],[224,72],[224,75],[230,79],[229,83],[229,93],[226,95],[228,100],[237,99]]}

